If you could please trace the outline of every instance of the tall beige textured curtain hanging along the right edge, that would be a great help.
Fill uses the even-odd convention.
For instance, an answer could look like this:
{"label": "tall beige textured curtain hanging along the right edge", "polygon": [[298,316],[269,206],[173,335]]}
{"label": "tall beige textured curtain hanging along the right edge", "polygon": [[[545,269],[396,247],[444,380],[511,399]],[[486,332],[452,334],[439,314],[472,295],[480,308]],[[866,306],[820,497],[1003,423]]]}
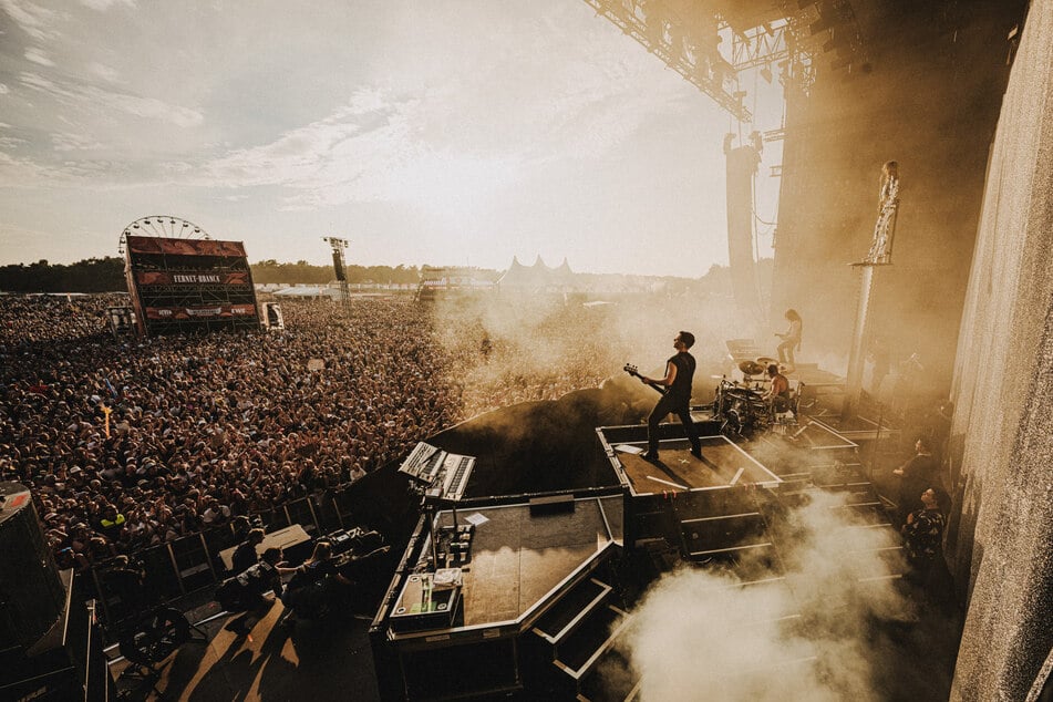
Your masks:
{"label": "tall beige textured curtain hanging along the right edge", "polygon": [[1034,0],[991,152],[956,361],[952,700],[1025,700],[1053,646],[1053,0]]}

